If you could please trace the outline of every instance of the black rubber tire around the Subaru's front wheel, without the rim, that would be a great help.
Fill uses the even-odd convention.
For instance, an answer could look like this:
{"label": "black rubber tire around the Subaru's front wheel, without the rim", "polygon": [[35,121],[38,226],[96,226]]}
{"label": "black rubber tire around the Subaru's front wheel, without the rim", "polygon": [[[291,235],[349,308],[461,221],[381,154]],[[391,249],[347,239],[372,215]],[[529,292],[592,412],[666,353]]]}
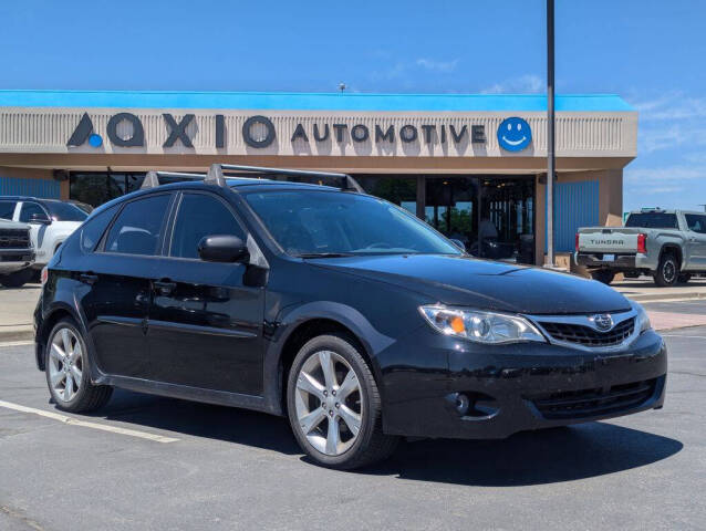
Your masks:
{"label": "black rubber tire around the Subaru's front wheel, without the rim", "polygon": [[[340,470],[351,470],[381,461],[394,452],[398,442],[398,437],[383,433],[382,404],[377,384],[365,358],[354,344],[355,342],[346,335],[336,333],[320,335],[310,340],[297,354],[287,383],[287,409],[292,431],[299,446],[316,464]],[[326,455],[312,446],[302,433],[297,418],[297,378],[304,363],[321,351],[333,352],[347,362],[357,377],[362,395],[362,420],[356,439],[349,449],[338,456]],[[328,421],[329,419],[326,419]]]}

